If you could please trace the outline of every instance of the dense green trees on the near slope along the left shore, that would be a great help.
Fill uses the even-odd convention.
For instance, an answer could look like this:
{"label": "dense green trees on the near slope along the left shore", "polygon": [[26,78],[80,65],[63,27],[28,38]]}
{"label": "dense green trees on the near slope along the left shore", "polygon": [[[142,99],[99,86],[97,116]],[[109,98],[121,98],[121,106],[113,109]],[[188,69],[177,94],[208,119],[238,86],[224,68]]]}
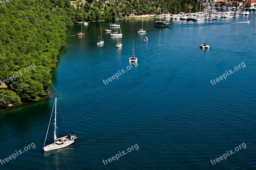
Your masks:
{"label": "dense green trees on the near slope along the left shore", "polygon": [[0,89],[0,108],[50,94],[50,72],[75,14],[70,0],[15,0],[0,5],[0,80],[24,72],[33,63],[36,66],[6,82],[8,90]]}

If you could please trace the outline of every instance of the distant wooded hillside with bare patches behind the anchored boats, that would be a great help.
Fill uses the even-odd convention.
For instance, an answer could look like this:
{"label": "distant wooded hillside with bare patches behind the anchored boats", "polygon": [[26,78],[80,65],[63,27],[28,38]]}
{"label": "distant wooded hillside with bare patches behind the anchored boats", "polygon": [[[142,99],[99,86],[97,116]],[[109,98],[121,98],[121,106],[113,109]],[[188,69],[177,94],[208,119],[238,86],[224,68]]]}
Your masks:
{"label": "distant wooded hillside with bare patches behind the anchored boats", "polygon": [[175,13],[175,8],[177,13],[189,12],[189,5],[193,7],[191,12],[200,8],[200,3],[192,0],[74,0],[71,4],[76,8],[77,22],[112,20],[116,13],[119,17],[129,17],[131,14],[159,14],[160,8],[167,13]]}

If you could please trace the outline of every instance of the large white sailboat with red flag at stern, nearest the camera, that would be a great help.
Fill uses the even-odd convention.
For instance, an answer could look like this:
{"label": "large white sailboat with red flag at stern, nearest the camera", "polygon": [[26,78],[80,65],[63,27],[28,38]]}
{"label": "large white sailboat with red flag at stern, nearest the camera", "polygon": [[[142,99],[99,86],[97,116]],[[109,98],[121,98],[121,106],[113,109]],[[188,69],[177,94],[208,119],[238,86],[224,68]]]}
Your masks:
{"label": "large white sailboat with red flag at stern, nearest the camera", "polygon": [[[73,144],[75,141],[75,139],[77,138],[76,135],[74,134],[74,136],[71,136],[68,137],[67,136],[64,136],[64,137],[60,137],[58,138],[57,135],[56,135],[56,129],[58,128],[56,126],[56,106],[57,106],[57,97],[55,97],[55,102],[54,102],[54,105],[53,105],[53,108],[55,106],[55,118],[54,118],[54,132],[53,132],[53,143],[52,144],[49,144],[47,146],[45,146],[45,141],[47,139],[47,134],[48,134],[48,131],[49,131],[49,127],[50,127],[50,123],[51,123],[51,119],[52,119],[52,115],[51,115],[51,119],[50,119],[50,122],[49,122],[49,126],[48,126],[48,129],[47,129],[47,133],[46,133],[46,137],[45,137],[45,140],[44,140],[44,151],[53,151],[53,150],[56,150],[56,149],[61,149],[61,148],[64,148],[64,147],[67,147],[68,145],[70,144]],[[53,112],[53,108],[52,108],[52,112]]]}

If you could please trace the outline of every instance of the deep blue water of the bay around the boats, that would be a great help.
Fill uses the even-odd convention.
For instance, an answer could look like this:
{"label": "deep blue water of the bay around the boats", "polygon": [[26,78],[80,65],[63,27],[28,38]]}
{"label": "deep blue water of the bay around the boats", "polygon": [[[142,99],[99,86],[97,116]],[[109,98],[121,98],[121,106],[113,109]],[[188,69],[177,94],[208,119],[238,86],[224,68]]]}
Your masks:
{"label": "deep blue water of the bay around the boats", "polygon": [[[167,19],[169,28],[154,26],[156,20],[143,19],[146,34],[137,33],[141,19],[120,20],[118,49],[117,37],[105,32],[104,44],[96,45],[108,22],[82,25],[81,37],[72,36],[80,25],[68,27],[51,100],[0,115],[0,159],[36,146],[0,169],[255,169],[256,12],[216,21]],[[204,30],[209,49],[199,48]],[[133,41],[138,65],[127,70]],[[122,69],[118,79],[103,83]],[[43,152],[55,93],[58,113],[78,138]],[[65,136],[57,116],[59,137]],[[243,143],[246,148],[212,165]],[[127,152],[135,145],[139,149]],[[119,160],[102,162],[123,151]]]}

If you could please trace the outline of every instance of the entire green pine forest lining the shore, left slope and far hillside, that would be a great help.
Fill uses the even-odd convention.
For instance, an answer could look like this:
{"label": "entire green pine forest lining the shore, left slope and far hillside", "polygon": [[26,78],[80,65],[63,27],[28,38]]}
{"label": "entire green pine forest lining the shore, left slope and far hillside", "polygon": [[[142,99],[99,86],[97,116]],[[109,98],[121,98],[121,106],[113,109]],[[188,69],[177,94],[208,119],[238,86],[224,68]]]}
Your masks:
{"label": "entire green pine forest lining the shore, left slope and far hillside", "polygon": [[[0,81],[16,71],[31,69],[0,84],[0,109],[35,102],[50,94],[51,72],[67,39],[67,26],[76,22],[114,20],[143,14],[196,11],[191,0],[10,0],[0,4]],[[199,4],[198,8],[199,10]]]}

